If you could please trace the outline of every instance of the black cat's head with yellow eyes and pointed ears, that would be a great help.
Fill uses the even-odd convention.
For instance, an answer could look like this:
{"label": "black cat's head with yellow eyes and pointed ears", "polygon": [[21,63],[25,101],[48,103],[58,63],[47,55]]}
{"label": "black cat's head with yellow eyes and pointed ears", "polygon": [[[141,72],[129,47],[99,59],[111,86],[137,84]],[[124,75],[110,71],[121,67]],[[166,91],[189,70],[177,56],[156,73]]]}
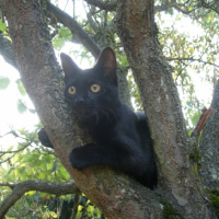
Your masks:
{"label": "black cat's head with yellow eyes and pointed ears", "polygon": [[118,101],[116,58],[106,47],[95,66],[82,70],[66,54],[61,54],[65,72],[65,97],[72,112],[81,117],[104,115],[114,111]]}

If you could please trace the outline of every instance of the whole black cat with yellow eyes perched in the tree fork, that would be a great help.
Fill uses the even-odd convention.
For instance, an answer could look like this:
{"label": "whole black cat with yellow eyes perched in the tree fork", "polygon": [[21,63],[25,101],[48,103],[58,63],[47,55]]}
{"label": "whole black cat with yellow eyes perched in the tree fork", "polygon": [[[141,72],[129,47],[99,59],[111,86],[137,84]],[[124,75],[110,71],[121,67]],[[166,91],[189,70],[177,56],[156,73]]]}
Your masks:
{"label": "whole black cat with yellow eyes perched in the tree fork", "polygon": [[[66,101],[95,140],[95,143],[73,148],[69,157],[71,165],[80,171],[106,164],[153,189],[157,168],[149,127],[142,112],[134,113],[118,97],[116,58],[112,48],[105,48],[91,69],[80,69],[66,54],[61,54],[61,64]],[[53,147],[44,129],[39,131],[39,140]]]}

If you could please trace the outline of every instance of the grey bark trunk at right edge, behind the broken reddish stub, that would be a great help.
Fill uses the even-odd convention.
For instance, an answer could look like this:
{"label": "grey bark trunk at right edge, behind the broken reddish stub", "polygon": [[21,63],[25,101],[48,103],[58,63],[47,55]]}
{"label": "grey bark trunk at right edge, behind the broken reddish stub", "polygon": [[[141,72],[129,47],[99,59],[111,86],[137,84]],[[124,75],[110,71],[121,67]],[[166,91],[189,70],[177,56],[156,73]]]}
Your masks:
{"label": "grey bark trunk at right edge, behind the broken reddish stub", "polygon": [[214,112],[203,130],[199,145],[203,157],[200,173],[206,187],[219,189],[219,80],[210,106]]}

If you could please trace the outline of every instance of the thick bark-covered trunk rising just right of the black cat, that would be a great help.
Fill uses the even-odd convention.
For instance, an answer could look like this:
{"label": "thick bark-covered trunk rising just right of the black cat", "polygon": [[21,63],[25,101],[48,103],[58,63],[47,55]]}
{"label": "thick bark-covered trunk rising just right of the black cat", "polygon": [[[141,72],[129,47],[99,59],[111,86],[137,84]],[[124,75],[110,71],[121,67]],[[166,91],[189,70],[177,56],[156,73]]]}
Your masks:
{"label": "thick bark-covered trunk rising just right of the black cat", "polygon": [[152,0],[119,0],[117,32],[123,42],[154,141],[159,189],[185,218],[208,218],[171,68],[162,57]]}

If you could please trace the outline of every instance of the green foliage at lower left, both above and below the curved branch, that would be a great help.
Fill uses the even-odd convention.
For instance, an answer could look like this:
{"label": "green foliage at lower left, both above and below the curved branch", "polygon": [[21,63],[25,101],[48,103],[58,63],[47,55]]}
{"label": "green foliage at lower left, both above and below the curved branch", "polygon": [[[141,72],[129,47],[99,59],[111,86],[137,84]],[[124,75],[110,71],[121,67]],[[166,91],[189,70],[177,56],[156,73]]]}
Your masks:
{"label": "green foliage at lower left, both above and below the curved branch", "polygon": [[[69,182],[68,172],[61,165],[59,159],[51,149],[39,146],[37,130],[42,127],[36,126],[33,132],[26,129],[16,130],[12,135],[19,139],[18,147],[10,147],[0,157],[0,182],[16,183],[25,180],[44,180],[49,182]],[[27,147],[27,146],[31,146]],[[19,151],[14,152],[13,151]],[[0,153],[1,154],[1,153]],[[0,203],[10,194],[9,187],[1,187]],[[73,196],[55,197],[39,192],[28,192],[9,211],[7,218],[15,217],[19,212],[22,218],[70,218],[73,208]],[[25,217],[24,217],[25,215]],[[77,218],[102,218],[102,212],[83,195],[80,198]]]}

